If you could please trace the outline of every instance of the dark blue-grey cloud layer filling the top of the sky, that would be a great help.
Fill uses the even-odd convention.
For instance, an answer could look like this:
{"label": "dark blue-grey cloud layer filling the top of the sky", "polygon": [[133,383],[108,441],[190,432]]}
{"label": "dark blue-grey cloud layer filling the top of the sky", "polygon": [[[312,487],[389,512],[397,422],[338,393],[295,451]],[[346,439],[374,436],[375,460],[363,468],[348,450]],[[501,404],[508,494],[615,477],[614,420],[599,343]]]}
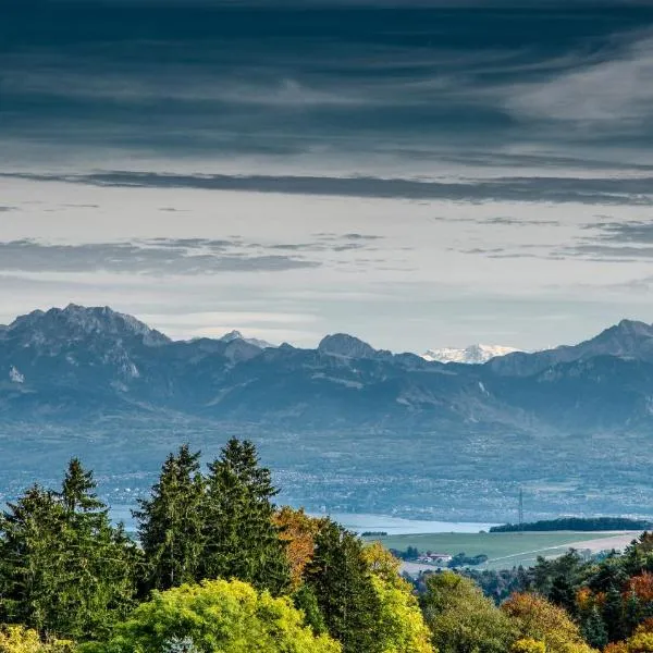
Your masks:
{"label": "dark blue-grey cloud layer filling the top of the sky", "polygon": [[653,143],[650,3],[254,4],[13,3],[0,139],[624,169]]}

